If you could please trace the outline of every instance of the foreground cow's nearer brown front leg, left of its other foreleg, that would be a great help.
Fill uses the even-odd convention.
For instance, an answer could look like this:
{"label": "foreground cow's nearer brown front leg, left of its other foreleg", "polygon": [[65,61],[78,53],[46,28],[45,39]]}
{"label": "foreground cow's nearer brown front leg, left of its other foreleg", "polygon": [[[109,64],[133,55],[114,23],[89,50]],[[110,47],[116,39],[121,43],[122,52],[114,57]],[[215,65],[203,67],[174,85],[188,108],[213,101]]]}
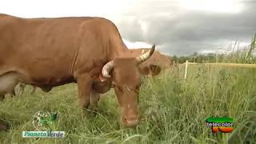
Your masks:
{"label": "foreground cow's nearer brown front leg, left of its other foreleg", "polygon": [[77,82],[78,82],[78,100],[83,110],[86,110],[90,105],[92,80],[89,74],[82,74],[78,76]]}

